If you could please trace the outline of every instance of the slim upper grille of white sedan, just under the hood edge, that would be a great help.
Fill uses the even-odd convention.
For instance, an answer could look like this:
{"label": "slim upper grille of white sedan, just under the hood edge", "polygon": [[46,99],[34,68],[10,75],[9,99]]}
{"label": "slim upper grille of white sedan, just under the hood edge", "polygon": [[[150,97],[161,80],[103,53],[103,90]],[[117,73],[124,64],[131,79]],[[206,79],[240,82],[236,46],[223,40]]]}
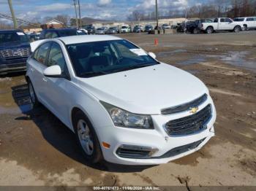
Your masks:
{"label": "slim upper grille of white sedan, just under the hood edge", "polygon": [[173,106],[167,109],[162,109],[162,114],[176,114],[179,112],[185,112],[192,107],[197,107],[203,104],[207,100],[207,94],[202,95],[200,98],[195,99],[194,101],[190,101],[187,104],[182,104],[179,106]]}

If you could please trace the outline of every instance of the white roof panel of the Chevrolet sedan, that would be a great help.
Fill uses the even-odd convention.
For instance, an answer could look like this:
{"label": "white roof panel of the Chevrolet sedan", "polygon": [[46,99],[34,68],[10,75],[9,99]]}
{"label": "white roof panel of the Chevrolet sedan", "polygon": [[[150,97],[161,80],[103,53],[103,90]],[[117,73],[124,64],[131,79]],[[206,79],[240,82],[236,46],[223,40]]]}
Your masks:
{"label": "white roof panel of the Chevrolet sedan", "polygon": [[110,35],[79,35],[79,36],[65,36],[57,38],[64,42],[64,44],[79,44],[86,42],[100,42],[100,41],[110,41],[110,40],[121,40],[117,36]]}

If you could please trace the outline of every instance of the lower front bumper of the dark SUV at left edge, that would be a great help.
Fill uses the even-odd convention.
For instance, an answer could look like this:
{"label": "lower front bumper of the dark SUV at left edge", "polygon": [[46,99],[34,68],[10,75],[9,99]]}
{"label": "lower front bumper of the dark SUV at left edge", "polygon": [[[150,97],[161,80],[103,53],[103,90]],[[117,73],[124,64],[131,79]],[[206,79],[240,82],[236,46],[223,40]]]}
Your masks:
{"label": "lower front bumper of the dark SUV at left edge", "polygon": [[26,71],[26,60],[27,58],[0,61],[0,74],[15,71]]}

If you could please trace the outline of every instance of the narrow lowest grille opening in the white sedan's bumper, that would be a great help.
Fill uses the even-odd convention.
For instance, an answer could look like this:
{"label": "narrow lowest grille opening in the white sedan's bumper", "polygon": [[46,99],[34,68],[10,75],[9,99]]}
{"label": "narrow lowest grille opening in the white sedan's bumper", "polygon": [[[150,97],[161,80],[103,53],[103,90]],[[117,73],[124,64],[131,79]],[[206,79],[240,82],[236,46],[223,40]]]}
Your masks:
{"label": "narrow lowest grille opening in the white sedan's bumper", "polygon": [[174,157],[176,155],[180,155],[181,153],[188,152],[189,150],[197,148],[205,139],[201,139],[200,141],[195,141],[191,144],[186,144],[181,147],[176,147],[174,149],[170,149],[170,151],[166,152],[164,155],[160,157],[151,157],[151,158],[168,158],[168,157]]}

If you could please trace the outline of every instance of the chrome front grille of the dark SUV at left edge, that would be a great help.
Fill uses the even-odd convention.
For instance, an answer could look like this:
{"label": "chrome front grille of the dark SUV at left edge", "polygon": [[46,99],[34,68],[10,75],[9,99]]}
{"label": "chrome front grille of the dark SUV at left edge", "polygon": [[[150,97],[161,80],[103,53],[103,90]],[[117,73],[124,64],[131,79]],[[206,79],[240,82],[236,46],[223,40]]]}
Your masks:
{"label": "chrome front grille of the dark SUV at left edge", "polygon": [[0,50],[0,57],[5,59],[29,57],[29,54],[30,54],[29,48]]}

